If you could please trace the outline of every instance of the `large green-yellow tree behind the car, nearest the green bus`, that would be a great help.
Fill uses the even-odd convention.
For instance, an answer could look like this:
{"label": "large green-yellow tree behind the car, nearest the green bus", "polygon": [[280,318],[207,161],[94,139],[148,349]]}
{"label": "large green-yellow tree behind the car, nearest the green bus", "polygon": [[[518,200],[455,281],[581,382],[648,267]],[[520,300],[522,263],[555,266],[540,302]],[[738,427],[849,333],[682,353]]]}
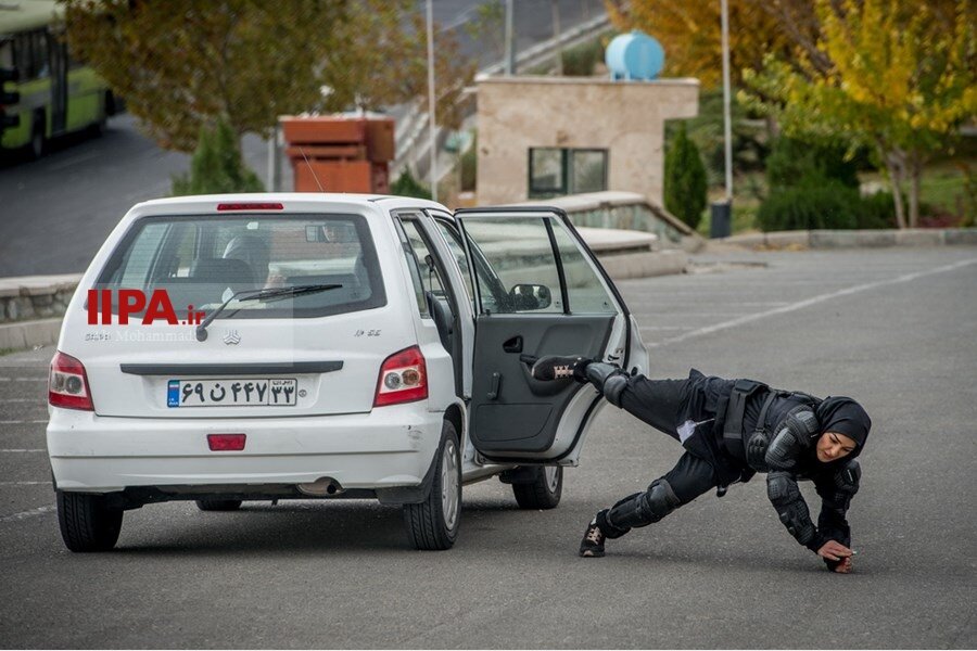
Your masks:
{"label": "large green-yellow tree behind the car, nearest the green bus", "polygon": [[306,110],[347,25],[342,0],[62,0],[72,49],[162,146],[191,151],[225,116],[267,136]]}

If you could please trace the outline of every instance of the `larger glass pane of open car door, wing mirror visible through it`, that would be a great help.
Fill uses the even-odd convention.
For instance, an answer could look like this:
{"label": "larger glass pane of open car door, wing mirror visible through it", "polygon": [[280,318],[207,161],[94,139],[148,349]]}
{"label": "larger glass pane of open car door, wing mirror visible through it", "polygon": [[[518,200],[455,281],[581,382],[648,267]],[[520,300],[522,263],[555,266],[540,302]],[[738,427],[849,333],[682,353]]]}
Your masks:
{"label": "larger glass pane of open car door, wing mirror visible through it", "polygon": [[467,217],[465,232],[475,261],[481,311],[564,311],[560,272],[546,218]]}

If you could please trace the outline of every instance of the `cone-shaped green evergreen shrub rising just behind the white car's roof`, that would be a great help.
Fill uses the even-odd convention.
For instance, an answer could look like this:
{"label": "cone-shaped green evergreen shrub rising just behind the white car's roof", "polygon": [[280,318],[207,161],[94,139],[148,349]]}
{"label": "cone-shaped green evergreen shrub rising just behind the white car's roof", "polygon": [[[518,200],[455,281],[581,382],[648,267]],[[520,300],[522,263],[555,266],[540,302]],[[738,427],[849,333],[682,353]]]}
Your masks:
{"label": "cone-shaped green evergreen shrub rising just behind the white car's roof", "polygon": [[220,119],[213,128],[200,129],[190,171],[173,177],[174,195],[262,192],[257,175],[244,165],[238,135]]}

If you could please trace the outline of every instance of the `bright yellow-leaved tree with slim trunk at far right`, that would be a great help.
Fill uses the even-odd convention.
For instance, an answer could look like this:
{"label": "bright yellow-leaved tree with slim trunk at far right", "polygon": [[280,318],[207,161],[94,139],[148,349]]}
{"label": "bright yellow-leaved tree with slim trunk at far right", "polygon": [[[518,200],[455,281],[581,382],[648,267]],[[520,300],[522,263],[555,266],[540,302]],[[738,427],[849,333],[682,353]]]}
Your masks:
{"label": "bright yellow-leaved tree with slim trunk at far right", "polygon": [[[899,228],[919,216],[923,166],[977,114],[977,28],[972,0],[816,0],[827,68],[769,56],[745,80],[789,136],[841,135],[875,151],[892,182]],[[748,98],[747,98],[748,99]],[[753,98],[754,101],[757,98]],[[909,220],[902,202],[909,181]]]}

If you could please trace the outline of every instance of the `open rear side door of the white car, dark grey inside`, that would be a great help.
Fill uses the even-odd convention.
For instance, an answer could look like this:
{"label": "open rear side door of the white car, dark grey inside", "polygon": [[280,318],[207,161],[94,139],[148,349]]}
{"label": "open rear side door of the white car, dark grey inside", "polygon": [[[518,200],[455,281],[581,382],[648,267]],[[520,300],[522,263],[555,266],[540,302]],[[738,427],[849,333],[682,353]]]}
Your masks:
{"label": "open rear side door of the white car, dark grey inside", "polygon": [[604,399],[572,379],[537,381],[532,363],[581,355],[631,368],[627,308],[562,210],[469,208],[455,218],[474,277],[472,444],[487,461],[575,465]]}

